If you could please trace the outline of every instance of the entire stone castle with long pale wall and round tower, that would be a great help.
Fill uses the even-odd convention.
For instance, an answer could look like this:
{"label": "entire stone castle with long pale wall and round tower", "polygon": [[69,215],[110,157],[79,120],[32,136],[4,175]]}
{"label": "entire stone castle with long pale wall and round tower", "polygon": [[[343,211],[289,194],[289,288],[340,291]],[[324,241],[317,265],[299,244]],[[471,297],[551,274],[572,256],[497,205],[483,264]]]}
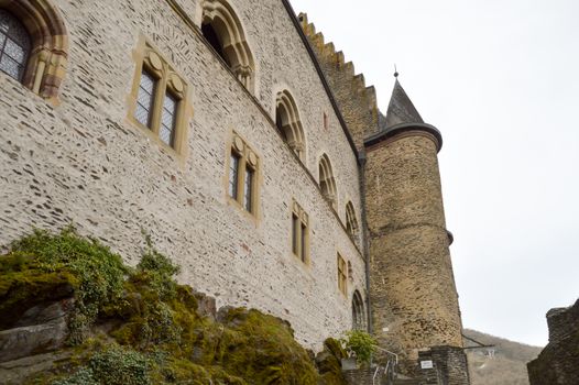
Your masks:
{"label": "entire stone castle with long pale wall and round tower", "polygon": [[0,244],[144,230],[218,306],[468,384],[441,134],[287,0],[0,0]]}

